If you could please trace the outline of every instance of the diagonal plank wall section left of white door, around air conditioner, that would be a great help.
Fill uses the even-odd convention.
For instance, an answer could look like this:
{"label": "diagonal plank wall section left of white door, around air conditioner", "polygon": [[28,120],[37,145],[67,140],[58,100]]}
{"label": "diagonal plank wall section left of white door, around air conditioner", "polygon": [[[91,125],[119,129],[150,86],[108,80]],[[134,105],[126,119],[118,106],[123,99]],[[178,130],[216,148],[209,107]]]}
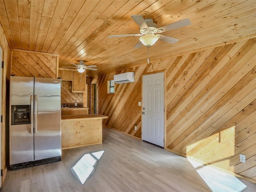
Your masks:
{"label": "diagonal plank wall section left of white door, around air conditioner", "polygon": [[[113,79],[114,74],[98,77],[98,114],[107,115],[104,125],[140,138],[141,129],[141,74],[146,65],[134,67],[116,73],[135,72],[135,83],[115,83],[115,93],[107,94],[107,81]],[[137,131],[134,126],[137,126]]]}

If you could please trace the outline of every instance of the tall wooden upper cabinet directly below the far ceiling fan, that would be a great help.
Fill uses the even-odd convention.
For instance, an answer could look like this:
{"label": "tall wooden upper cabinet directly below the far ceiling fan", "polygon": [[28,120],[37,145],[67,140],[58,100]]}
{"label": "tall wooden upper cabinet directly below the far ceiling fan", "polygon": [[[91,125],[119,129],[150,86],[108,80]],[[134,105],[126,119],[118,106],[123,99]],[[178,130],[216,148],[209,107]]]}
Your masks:
{"label": "tall wooden upper cabinet directly below the far ceiling fan", "polygon": [[78,73],[77,71],[73,71],[72,92],[73,93],[86,92],[86,72]]}

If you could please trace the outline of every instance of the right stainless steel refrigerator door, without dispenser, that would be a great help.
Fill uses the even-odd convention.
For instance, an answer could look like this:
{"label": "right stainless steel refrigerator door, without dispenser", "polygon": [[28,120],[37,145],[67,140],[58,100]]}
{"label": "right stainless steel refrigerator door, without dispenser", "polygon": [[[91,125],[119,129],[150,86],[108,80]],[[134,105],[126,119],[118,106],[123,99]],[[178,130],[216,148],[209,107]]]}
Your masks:
{"label": "right stainless steel refrigerator door, without dispenser", "polygon": [[34,81],[34,160],[61,156],[61,79]]}

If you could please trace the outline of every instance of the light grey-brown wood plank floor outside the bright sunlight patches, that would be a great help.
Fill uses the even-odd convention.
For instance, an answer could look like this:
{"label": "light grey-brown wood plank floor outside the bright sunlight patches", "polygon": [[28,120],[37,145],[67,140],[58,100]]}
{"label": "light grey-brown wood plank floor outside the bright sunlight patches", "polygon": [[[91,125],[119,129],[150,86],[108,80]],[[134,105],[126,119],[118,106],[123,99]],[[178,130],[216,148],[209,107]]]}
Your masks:
{"label": "light grey-brown wood plank floor outside the bright sunlight patches", "polygon": [[[105,150],[84,184],[70,168],[83,154]],[[256,185],[242,180],[248,188]],[[190,162],[177,154],[104,128],[103,144],[62,151],[62,160],[8,170],[2,192],[210,192]]]}

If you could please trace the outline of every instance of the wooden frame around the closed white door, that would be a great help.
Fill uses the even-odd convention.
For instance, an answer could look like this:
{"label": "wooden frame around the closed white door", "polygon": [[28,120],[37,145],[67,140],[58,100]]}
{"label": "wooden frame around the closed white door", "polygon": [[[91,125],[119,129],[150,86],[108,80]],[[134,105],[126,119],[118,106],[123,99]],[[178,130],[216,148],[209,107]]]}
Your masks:
{"label": "wooden frame around the closed white door", "polygon": [[153,72],[149,72],[149,73],[142,73],[141,74],[141,109],[140,109],[140,113],[141,113],[141,133],[140,133],[140,140],[142,141],[143,137],[142,137],[142,128],[143,128],[143,115],[142,115],[142,111],[143,111],[143,77],[144,75],[151,75],[154,73],[162,73],[164,72],[164,149],[166,149],[166,69],[164,70],[160,70],[160,71],[153,71]]}

